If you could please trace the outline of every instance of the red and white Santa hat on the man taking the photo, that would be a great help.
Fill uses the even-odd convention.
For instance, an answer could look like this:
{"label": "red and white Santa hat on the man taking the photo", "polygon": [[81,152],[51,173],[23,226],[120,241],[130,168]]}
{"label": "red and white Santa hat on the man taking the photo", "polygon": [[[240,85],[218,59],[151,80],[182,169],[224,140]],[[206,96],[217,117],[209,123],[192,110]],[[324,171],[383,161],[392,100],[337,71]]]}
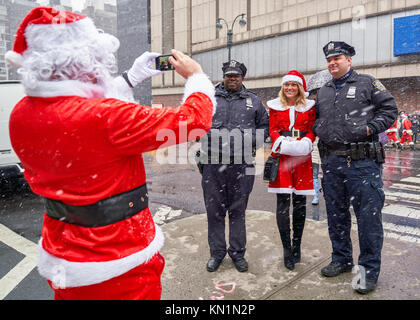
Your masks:
{"label": "red and white Santa hat on the man taking the photo", "polygon": [[[82,42],[80,39],[92,35],[101,38],[105,34],[100,34],[88,17],[55,8],[36,7],[20,23],[13,51],[6,52],[5,58],[12,66],[19,67],[27,50],[46,52],[57,45],[80,43]],[[115,37],[102,38],[107,38],[106,41],[112,52],[118,49],[119,42],[116,43]]]}

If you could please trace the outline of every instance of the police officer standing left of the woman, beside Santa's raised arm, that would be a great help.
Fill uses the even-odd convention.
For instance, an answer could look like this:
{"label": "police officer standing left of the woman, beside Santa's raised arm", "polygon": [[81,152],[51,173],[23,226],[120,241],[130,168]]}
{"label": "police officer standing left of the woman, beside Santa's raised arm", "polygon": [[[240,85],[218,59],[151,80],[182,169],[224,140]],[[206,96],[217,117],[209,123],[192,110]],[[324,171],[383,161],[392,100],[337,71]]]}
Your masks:
{"label": "police officer standing left of the woman, beside Santa's raised arm", "polygon": [[[268,115],[261,99],[242,84],[247,68],[231,60],[223,64],[223,82],[216,85],[216,113],[207,136],[201,138],[202,188],[208,219],[209,272],[226,253],[238,271],[248,270],[245,210],[254,185],[256,149],[268,136]],[[229,248],[225,217],[229,213]]]}

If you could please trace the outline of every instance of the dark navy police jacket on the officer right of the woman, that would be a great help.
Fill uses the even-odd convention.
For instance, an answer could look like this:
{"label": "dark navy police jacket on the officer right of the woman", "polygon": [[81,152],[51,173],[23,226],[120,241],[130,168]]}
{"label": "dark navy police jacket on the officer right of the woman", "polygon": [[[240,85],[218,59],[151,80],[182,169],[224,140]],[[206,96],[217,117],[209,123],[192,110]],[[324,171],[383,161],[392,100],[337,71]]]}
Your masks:
{"label": "dark navy police jacket on the officer right of the woman", "polygon": [[315,110],[313,131],[332,149],[343,143],[378,141],[378,134],[398,116],[394,97],[381,82],[356,71],[338,92],[333,81],[325,84],[319,90]]}

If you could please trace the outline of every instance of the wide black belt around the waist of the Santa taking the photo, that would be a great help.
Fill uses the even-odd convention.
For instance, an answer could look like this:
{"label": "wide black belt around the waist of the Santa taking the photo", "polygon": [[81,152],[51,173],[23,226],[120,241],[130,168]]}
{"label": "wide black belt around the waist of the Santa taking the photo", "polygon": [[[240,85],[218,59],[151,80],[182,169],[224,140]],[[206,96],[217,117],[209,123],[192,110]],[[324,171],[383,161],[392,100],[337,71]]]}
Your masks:
{"label": "wide black belt around the waist of the Santa taking the photo", "polygon": [[149,205],[146,184],[86,206],[45,199],[47,215],[83,227],[106,226],[134,216]]}

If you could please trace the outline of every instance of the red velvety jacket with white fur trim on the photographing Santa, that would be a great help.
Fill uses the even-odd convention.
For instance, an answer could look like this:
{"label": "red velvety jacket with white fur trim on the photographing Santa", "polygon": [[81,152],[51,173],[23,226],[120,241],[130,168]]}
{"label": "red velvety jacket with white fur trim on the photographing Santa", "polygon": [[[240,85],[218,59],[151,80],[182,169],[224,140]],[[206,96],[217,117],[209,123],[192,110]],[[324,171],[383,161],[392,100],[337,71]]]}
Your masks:
{"label": "red velvety jacket with white fur trim on the photographing Santa", "polygon": [[[192,130],[204,135],[211,127],[214,88],[205,75],[188,79],[177,108],[98,98],[100,88],[72,85],[41,83],[10,116],[10,137],[25,178],[46,198],[88,205],[141,186],[143,152],[195,140]],[[158,138],[163,129],[171,130],[172,141]],[[39,245],[38,271],[53,282],[61,277],[66,288],[100,283],[146,263],[162,247],[163,234],[149,208],[94,228],[45,214]]]}

